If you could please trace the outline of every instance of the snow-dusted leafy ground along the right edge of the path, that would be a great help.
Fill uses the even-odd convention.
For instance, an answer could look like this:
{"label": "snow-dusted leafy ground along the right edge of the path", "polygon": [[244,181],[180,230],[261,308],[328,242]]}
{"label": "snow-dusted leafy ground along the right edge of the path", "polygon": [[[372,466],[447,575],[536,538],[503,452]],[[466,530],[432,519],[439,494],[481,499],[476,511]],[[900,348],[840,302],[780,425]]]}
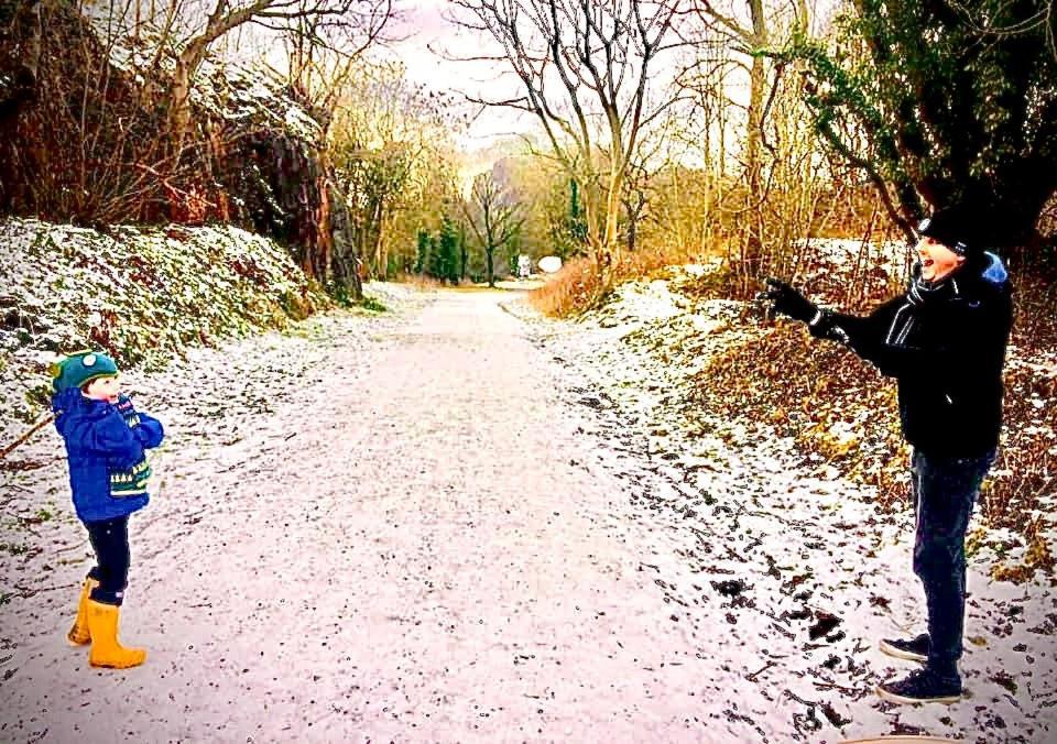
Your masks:
{"label": "snow-dusted leafy ground along the right edge of the path", "polygon": [[[729,714],[758,732],[785,718],[777,741],[1047,738],[1057,726],[1048,702],[1057,694],[1057,595],[1045,573],[1028,571],[1020,584],[992,579],[996,561],[1024,561],[1032,546],[1023,534],[989,526],[980,510],[970,526],[961,664],[970,699],[907,708],[876,698],[876,682],[913,668],[880,654],[878,641],[925,630],[909,505],[883,508],[875,488],[842,478],[827,457],[776,436],[767,422],[730,420],[694,403],[711,360],[774,330],[752,304],[680,297],[678,287],[700,275],[677,269],[667,281],[622,285],[612,302],[575,321],[517,311],[555,359],[591,381],[579,402],[598,409],[599,428],[621,442],[611,467],[641,480],[635,503],[696,536],[683,561],[657,561],[656,580],[698,653],[727,660],[740,676],[739,694],[759,690],[759,705]],[[856,427],[838,424],[830,438],[853,444]],[[650,486],[621,451],[647,458],[669,488]],[[1050,546],[1055,501],[1038,501],[1038,537]]]}

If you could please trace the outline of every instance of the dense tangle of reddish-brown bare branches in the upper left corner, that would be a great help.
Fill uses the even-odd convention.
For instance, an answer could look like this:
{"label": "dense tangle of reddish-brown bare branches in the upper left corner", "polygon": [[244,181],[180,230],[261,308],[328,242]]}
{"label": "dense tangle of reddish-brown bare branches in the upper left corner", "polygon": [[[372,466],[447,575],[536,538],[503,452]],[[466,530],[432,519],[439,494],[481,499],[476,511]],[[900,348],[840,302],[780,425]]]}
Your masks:
{"label": "dense tangle of reddish-brown bare branches in the upper left corner", "polygon": [[[115,64],[127,59],[119,47],[140,2],[0,3],[3,209],[86,222],[150,220],[166,195],[182,190],[170,168],[159,168],[167,143],[153,109],[140,106],[132,76]],[[4,20],[12,9],[21,9],[14,23]],[[15,106],[4,106],[12,87]]]}

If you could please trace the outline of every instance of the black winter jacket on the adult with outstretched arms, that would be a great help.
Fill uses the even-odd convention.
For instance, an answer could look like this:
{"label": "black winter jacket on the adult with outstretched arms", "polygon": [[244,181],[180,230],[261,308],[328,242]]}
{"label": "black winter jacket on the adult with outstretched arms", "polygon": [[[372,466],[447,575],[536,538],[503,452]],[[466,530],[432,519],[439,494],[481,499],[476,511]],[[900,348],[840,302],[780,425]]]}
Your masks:
{"label": "black winter jacket on the adult with outstretched arms", "polygon": [[967,262],[935,291],[914,291],[867,317],[824,311],[811,335],[840,341],[895,378],[903,436],[937,458],[999,444],[1012,287],[996,255]]}

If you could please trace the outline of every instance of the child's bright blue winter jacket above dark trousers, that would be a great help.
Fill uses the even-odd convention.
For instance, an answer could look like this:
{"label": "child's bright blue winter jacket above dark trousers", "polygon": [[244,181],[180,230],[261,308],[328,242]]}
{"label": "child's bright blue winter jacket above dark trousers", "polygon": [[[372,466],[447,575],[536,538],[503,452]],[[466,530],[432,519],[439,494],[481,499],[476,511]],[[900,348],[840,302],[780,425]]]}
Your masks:
{"label": "child's bright blue winter jacket above dark trousers", "polygon": [[81,522],[126,516],[146,506],[151,468],[143,450],[162,444],[161,422],[132,407],[92,401],[72,387],[52,398],[55,428],[66,442],[69,486]]}

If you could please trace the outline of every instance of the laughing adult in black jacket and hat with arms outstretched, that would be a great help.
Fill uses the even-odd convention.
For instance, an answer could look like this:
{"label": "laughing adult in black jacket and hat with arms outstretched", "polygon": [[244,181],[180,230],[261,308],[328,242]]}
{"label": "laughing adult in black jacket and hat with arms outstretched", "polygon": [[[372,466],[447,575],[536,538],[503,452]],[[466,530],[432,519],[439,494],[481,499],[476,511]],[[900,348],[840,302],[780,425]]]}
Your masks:
{"label": "laughing adult in black jacket and hat with arms outstretched", "polygon": [[913,449],[914,572],[928,608],[928,633],[880,644],[886,654],[924,663],[878,686],[882,698],[900,703],[950,703],[962,694],[966,529],[998,451],[1013,315],[1009,275],[976,242],[972,219],[952,207],[922,221],[907,291],[868,316],[820,309],[773,278],[762,295],[775,313],[806,322],[811,336],[843,343],[897,381],[903,436]]}

